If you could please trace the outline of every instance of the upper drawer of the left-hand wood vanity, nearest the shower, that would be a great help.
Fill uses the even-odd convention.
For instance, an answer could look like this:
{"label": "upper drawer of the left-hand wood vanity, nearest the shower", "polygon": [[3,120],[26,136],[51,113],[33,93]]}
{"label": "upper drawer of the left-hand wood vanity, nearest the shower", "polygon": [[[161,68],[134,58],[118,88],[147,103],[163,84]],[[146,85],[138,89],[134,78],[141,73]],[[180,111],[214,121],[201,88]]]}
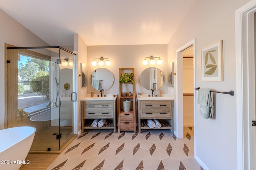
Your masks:
{"label": "upper drawer of the left-hand wood vanity, nearest the shower", "polygon": [[113,109],[113,102],[83,102],[84,109]]}

